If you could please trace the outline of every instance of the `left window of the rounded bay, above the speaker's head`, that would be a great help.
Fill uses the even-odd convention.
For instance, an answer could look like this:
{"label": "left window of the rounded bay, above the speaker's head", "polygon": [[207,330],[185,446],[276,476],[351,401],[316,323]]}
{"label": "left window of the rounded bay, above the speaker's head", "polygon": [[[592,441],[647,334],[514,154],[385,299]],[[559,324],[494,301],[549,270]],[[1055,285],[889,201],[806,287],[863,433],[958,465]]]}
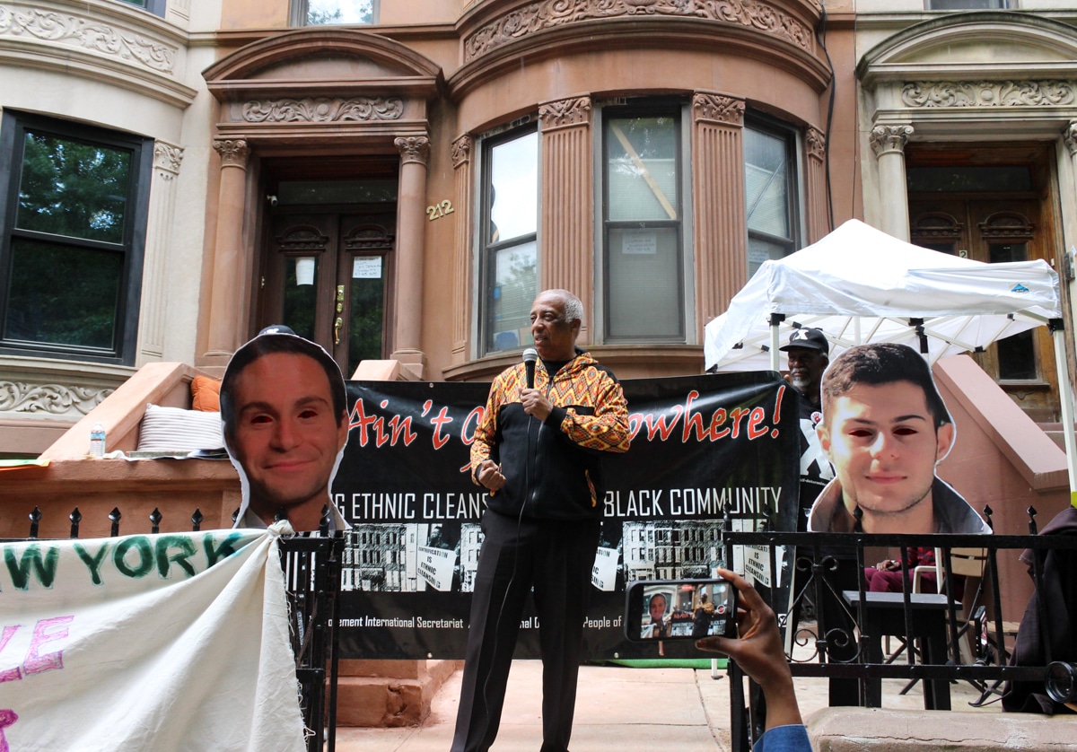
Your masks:
{"label": "left window of the rounded bay, above the speaker's head", "polygon": [[538,294],[538,133],[532,126],[482,144],[481,309],[484,352],[531,344]]}

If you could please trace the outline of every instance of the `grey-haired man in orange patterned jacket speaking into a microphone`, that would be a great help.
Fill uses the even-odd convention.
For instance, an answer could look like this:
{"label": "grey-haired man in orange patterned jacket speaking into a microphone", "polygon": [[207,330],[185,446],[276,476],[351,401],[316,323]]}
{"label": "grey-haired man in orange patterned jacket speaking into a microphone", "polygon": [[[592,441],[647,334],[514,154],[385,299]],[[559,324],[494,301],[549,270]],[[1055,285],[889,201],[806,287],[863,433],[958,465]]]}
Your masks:
{"label": "grey-haired man in orange patterned jacket speaking into a microphone", "polygon": [[490,493],[452,752],[485,752],[498,735],[532,587],[543,658],[542,752],[569,749],[601,525],[602,455],[629,444],[620,385],[576,348],[583,308],[567,290],[540,293],[531,307],[540,360],[498,375],[475,430],[472,476]]}

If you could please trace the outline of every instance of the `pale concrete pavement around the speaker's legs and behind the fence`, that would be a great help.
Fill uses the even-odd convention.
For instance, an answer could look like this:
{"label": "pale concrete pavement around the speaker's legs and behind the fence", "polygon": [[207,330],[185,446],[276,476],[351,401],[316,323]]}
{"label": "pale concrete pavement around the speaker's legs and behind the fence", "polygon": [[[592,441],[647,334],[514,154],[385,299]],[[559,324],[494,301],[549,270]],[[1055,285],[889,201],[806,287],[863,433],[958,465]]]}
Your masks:
{"label": "pale concrete pavement around the speaker's legs and behind the fence", "polygon": [[[725,670],[714,680],[710,671],[689,668],[638,669],[584,666],[579,670],[572,752],[635,752],[662,749],[729,750],[729,680]],[[899,695],[904,682],[883,681],[883,706],[921,710],[918,683]],[[826,708],[827,684],[821,679],[796,680],[801,713],[809,718]],[[411,728],[339,728],[341,752],[448,752],[452,742],[460,671],[440,688],[431,715]],[[998,705],[970,708],[975,693],[964,682],[952,686],[954,713],[997,715]],[[542,664],[516,660],[508,678],[505,712],[493,752],[536,751],[542,744]],[[951,720],[954,720],[951,716]],[[863,729],[870,733],[870,729]]]}

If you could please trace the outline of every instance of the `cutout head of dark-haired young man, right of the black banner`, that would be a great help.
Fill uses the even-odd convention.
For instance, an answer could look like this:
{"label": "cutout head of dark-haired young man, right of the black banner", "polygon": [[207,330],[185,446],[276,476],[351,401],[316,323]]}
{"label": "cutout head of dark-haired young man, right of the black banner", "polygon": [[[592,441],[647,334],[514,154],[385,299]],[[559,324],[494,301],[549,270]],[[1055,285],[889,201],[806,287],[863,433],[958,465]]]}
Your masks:
{"label": "cutout head of dark-haired young man, right of the black banner", "polygon": [[816,431],[836,478],[815,500],[809,530],[851,532],[858,509],[865,532],[984,531],[968,502],[936,476],[955,428],[920,353],[892,344],[851,348],[822,388]]}

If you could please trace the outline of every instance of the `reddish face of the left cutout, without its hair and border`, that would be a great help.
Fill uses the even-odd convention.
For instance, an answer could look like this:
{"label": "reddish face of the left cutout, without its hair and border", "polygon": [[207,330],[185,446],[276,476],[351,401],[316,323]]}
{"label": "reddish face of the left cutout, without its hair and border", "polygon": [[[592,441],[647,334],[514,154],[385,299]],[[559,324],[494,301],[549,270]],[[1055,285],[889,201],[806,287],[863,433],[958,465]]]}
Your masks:
{"label": "reddish face of the left cutout, without its hair and border", "polygon": [[267,524],[283,510],[296,530],[317,530],[348,440],[325,371],[305,354],[269,352],[243,368],[233,391],[228,441],[247,473],[251,509]]}

